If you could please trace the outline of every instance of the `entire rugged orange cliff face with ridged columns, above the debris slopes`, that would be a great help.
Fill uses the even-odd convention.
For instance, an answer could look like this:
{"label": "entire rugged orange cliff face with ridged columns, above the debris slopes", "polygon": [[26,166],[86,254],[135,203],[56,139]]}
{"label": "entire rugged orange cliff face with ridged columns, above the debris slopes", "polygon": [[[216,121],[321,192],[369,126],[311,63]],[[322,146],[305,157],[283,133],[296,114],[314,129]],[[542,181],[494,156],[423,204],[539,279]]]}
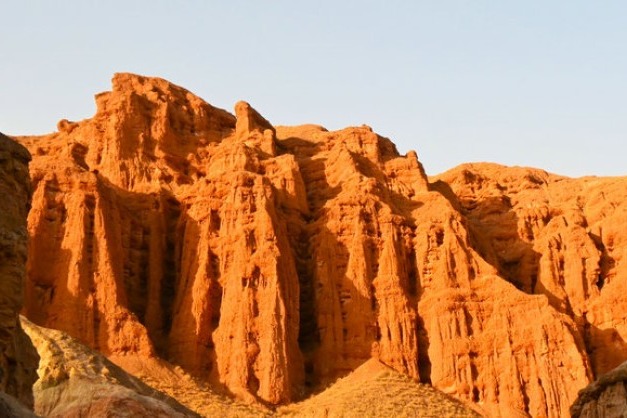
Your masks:
{"label": "entire rugged orange cliff face with ridged columns, above the debris slopes", "polygon": [[622,179],[430,181],[366,126],[273,127],[131,74],[96,102],[19,138],[25,313],[128,371],[285,404],[374,357],[493,416],[557,417],[622,359]]}

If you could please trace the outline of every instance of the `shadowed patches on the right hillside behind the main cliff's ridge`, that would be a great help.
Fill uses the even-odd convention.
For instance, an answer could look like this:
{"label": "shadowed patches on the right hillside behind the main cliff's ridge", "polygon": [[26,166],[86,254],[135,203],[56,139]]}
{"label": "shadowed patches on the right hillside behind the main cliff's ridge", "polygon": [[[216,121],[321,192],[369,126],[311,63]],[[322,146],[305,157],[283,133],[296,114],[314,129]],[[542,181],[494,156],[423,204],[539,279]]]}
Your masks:
{"label": "shadowed patches on the right hillside behind the main cliff's ridge", "polygon": [[[571,333],[579,340],[578,348],[586,352],[595,378],[627,361],[627,343],[614,329],[595,327],[583,316],[575,315],[568,298],[558,297],[538,282],[541,253],[532,246],[532,232],[519,230],[519,220],[507,196],[478,200],[462,200],[451,187],[439,180],[431,190],[442,194],[465,219],[473,249],[497,270],[498,274],[528,294],[541,294],[558,312],[574,320]],[[520,233],[527,233],[526,240]],[[601,238],[589,234],[600,252],[599,278],[595,285],[601,290],[615,265]]]}

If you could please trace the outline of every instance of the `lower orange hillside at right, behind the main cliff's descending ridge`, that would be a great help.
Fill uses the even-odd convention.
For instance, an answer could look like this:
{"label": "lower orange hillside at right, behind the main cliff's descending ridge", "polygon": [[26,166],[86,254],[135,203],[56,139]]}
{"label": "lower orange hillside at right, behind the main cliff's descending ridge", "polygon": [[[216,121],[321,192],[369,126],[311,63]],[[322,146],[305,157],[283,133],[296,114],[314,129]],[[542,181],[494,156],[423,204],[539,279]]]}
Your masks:
{"label": "lower orange hillside at right, behind the main cliff's descending ridge", "polygon": [[484,259],[574,320],[595,376],[627,361],[626,178],[468,164],[437,180]]}

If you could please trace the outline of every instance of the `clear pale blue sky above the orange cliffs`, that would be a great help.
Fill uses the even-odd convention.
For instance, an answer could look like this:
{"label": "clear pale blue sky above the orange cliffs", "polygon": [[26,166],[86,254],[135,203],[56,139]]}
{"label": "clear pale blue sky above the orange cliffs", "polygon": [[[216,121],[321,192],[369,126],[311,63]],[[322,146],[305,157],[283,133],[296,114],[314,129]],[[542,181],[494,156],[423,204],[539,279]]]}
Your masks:
{"label": "clear pale blue sky above the orange cliffs", "polygon": [[367,124],[428,174],[627,175],[627,1],[4,1],[0,131],[95,111],[114,72],[275,125]]}

